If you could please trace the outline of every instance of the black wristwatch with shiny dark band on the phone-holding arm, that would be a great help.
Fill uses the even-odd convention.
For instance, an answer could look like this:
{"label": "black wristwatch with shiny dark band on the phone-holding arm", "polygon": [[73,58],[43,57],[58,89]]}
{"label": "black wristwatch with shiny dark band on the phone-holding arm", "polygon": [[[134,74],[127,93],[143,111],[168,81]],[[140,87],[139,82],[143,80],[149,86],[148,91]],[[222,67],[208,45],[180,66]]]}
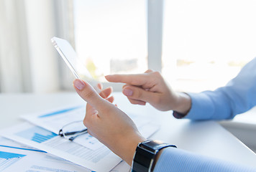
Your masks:
{"label": "black wristwatch with shiny dark band on the phone-holding arm", "polygon": [[157,152],[166,147],[174,147],[159,140],[146,140],[137,145],[132,161],[132,172],[151,172]]}

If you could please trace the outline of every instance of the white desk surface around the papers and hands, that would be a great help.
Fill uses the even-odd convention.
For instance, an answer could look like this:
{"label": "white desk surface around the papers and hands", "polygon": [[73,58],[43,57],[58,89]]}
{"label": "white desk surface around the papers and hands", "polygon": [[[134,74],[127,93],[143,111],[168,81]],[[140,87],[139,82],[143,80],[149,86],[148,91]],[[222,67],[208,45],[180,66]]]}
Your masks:
{"label": "white desk surface around the papers and hands", "polygon": [[[115,93],[114,97],[115,102],[124,112],[150,116],[155,118],[156,123],[160,123],[160,130],[152,136],[154,139],[175,144],[178,148],[201,155],[256,167],[255,153],[222,128],[219,123],[177,120],[173,118],[171,112],[160,112],[150,105],[132,105],[121,93]],[[81,102],[83,100],[75,92],[51,95],[0,94],[0,128],[21,123],[19,115],[22,114]]]}

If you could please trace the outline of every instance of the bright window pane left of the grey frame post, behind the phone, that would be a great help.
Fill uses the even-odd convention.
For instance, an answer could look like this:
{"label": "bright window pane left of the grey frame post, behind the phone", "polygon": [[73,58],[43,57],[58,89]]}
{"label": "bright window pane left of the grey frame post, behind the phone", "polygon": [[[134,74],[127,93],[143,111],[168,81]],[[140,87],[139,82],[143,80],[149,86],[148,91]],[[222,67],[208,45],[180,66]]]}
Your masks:
{"label": "bright window pane left of the grey frame post, behind the phone", "polygon": [[146,1],[75,0],[76,51],[94,77],[147,70]]}

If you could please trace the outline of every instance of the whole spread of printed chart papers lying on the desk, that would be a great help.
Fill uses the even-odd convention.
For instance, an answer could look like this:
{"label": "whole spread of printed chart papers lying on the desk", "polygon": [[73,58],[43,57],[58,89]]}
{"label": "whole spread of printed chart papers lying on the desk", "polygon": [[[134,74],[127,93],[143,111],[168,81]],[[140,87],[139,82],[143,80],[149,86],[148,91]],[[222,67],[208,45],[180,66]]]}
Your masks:
{"label": "whole spread of printed chart papers lying on the desk", "polygon": [[[13,146],[13,143],[0,139],[0,171],[14,171],[21,164],[27,164],[22,166],[26,170],[19,171],[129,171],[127,163],[120,163],[121,158],[88,133],[73,141],[58,135],[64,125],[83,120],[84,115],[84,106],[23,115],[22,118],[29,123],[6,128],[0,134],[32,148]],[[159,128],[152,121],[138,115],[130,115],[130,118],[146,138]]]}

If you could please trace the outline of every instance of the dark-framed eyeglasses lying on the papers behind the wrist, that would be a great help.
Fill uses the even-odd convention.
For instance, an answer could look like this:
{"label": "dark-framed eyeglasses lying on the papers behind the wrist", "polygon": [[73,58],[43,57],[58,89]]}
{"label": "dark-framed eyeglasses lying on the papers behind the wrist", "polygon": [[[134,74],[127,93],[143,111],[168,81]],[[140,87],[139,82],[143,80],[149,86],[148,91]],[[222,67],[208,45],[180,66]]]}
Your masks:
{"label": "dark-framed eyeglasses lying on the papers behind the wrist", "polygon": [[83,120],[77,120],[72,123],[68,123],[60,129],[59,135],[68,140],[73,141],[79,135],[88,133],[87,128],[83,125]]}

